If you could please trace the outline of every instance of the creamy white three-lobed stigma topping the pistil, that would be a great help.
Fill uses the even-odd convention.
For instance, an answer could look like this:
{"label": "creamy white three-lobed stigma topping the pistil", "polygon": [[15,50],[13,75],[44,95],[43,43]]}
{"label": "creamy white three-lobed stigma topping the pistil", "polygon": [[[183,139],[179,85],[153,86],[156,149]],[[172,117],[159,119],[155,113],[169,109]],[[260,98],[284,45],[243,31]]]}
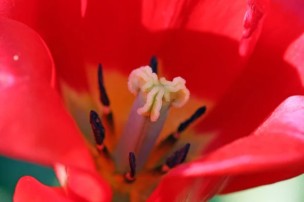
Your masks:
{"label": "creamy white three-lobed stigma topping the pistil", "polygon": [[140,91],[145,99],[144,106],[137,113],[150,117],[154,122],[159,118],[163,105],[180,108],[187,103],[190,92],[185,83],[181,77],[175,77],[173,81],[167,81],[164,77],[158,80],[157,74],[149,66],[145,66],[131,72],[128,87],[136,96]]}

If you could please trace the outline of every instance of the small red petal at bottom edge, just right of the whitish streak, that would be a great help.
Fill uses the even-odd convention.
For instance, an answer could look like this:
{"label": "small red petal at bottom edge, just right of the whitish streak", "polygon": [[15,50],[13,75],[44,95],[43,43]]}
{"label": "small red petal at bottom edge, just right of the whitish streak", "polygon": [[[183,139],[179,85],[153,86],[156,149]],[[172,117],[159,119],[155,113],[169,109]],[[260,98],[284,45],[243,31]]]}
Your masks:
{"label": "small red petal at bottom edge, just right of the whitish streak", "polygon": [[88,202],[110,202],[111,187],[98,175],[67,169],[67,194],[70,198]]}

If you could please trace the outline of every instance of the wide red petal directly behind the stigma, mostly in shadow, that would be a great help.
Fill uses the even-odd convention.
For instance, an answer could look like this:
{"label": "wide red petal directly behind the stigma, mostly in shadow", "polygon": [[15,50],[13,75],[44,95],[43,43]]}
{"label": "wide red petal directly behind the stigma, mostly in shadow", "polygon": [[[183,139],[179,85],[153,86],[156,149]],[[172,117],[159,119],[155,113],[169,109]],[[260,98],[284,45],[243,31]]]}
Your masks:
{"label": "wide red petal directly behind the stigma, mostly in shadow", "polygon": [[86,59],[129,74],[157,55],[165,75],[216,101],[245,64],[238,52],[245,12],[243,0],[89,1]]}

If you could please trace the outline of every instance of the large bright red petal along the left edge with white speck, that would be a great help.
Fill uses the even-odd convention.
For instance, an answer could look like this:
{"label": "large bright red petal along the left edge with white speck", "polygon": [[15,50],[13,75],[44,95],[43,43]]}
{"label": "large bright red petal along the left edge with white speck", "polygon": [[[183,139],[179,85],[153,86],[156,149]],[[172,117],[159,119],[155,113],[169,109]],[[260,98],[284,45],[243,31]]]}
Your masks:
{"label": "large bright red petal along the left edge with white speck", "polygon": [[50,87],[52,61],[29,27],[0,18],[0,153],[46,165],[95,170],[59,95]]}

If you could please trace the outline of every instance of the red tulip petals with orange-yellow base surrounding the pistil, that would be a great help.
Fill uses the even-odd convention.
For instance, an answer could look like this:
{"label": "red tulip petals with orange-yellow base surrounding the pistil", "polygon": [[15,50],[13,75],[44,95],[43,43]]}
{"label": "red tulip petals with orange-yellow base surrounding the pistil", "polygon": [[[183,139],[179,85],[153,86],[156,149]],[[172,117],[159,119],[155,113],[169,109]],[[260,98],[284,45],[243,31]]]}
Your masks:
{"label": "red tulip petals with orange-yellow base surrounding the pistil", "polygon": [[[198,201],[302,174],[303,7],[297,0],[248,0],[247,5],[237,0],[0,1],[4,17],[0,18],[0,102],[5,106],[0,109],[0,153],[54,166],[63,186],[50,188],[23,177],[14,201],[109,201],[111,190],[104,179],[114,197],[130,193],[124,197],[142,201],[159,184],[148,201]],[[88,142],[52,88],[55,71],[50,52],[33,30],[50,48],[58,90]],[[124,175],[125,168],[114,168],[113,162],[128,163],[128,153],[123,157],[121,151],[128,150],[140,124],[129,119],[127,126],[135,132],[122,135],[120,139],[130,141],[123,141],[125,147],[119,141],[115,149],[116,135],[121,134],[133,101],[123,83],[151,55],[159,59],[158,75],[170,79],[180,75],[187,81],[191,98],[184,109],[171,111],[141,173],[135,174],[135,166],[143,164],[141,156],[130,150],[137,163],[130,153],[130,171]],[[99,104],[100,61],[110,107]],[[178,129],[174,144],[160,147],[166,135],[202,105],[207,106],[204,119],[180,137]],[[90,110],[98,111],[102,119],[109,117],[105,116],[109,110],[114,116],[114,127],[103,121],[107,131],[103,142],[103,137],[98,139],[104,134],[100,122],[91,114],[101,155],[89,143]],[[188,144],[174,153],[182,142],[191,143],[188,163],[171,170],[187,154]],[[170,166],[175,160],[168,158],[168,150],[177,154],[179,163]],[[116,159],[107,159],[107,151]],[[156,162],[171,171],[165,175],[155,169],[160,165]]]}

